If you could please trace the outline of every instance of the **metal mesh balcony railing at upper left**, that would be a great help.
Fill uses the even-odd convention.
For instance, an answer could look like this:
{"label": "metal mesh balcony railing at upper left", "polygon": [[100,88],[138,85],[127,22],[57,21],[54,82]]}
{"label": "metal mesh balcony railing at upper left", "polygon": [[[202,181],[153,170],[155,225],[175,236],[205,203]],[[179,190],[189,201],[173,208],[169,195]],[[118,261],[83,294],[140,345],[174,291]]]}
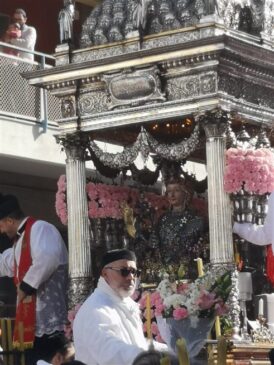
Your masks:
{"label": "metal mesh balcony railing at upper left", "polygon": [[[11,53],[24,51],[37,61],[19,58]],[[61,119],[59,100],[46,90],[30,86],[22,73],[52,67],[55,58],[40,52],[0,42],[0,117],[41,123],[44,131],[48,122]]]}

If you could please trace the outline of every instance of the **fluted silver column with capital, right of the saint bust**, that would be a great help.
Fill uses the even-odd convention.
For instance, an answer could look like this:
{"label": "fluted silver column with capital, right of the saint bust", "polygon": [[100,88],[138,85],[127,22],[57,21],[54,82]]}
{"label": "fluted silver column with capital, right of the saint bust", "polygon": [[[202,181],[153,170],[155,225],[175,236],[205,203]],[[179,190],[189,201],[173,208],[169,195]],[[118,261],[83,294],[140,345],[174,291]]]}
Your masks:
{"label": "fluted silver column with capital, right of the saint bust", "polygon": [[206,133],[210,262],[232,263],[232,219],[228,194],[224,191],[226,118],[216,111],[203,118]]}

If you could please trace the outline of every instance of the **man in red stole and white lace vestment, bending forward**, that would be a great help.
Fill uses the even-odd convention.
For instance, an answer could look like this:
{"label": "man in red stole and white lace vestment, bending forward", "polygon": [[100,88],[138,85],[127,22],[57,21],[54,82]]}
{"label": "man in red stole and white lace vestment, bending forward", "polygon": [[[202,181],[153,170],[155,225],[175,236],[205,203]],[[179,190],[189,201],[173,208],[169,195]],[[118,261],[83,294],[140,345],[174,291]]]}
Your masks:
{"label": "man in red stole and white lace vestment, bending forward", "polygon": [[[62,332],[67,320],[68,253],[58,230],[50,223],[26,217],[13,195],[0,194],[0,232],[14,241],[0,254],[0,276],[17,286],[14,346],[33,345],[28,365],[39,359],[49,335]],[[23,323],[21,326],[20,323]]]}

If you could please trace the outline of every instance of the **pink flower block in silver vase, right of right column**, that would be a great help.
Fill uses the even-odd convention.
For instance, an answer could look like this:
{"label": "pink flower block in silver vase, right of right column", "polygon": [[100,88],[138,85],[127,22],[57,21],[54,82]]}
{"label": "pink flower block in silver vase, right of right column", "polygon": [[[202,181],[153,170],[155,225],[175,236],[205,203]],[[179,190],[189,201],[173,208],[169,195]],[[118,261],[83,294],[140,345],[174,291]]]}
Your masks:
{"label": "pink flower block in silver vase, right of right column", "polygon": [[259,195],[273,191],[273,152],[267,148],[229,148],[226,151],[224,188],[227,193],[244,189]]}

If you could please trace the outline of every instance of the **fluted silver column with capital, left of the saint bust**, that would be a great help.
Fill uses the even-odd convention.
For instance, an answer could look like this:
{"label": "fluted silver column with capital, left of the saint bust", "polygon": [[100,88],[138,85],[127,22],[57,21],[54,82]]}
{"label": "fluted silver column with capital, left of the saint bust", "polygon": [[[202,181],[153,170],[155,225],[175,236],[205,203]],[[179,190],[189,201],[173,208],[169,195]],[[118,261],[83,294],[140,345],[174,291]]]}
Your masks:
{"label": "fluted silver column with capital, left of the saint bust", "polygon": [[92,288],[90,229],[86,195],[85,149],[87,137],[80,133],[58,137],[66,151],[69,308],[82,302]]}

